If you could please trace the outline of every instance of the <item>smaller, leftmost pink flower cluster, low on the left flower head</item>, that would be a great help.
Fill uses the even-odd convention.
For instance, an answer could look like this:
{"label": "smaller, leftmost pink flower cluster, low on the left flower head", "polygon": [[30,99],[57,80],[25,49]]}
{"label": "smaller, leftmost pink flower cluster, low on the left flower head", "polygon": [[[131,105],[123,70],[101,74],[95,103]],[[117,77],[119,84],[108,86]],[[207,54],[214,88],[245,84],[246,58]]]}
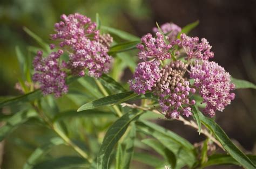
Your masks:
{"label": "smaller, leftmost pink flower cluster, low on the left flower head", "polygon": [[33,81],[41,84],[41,90],[44,95],[54,93],[56,97],[68,92],[68,86],[65,84],[66,73],[62,71],[58,60],[62,50],[51,52],[48,57],[43,58],[43,52],[38,51],[33,60],[33,67],[36,73],[33,74]]}

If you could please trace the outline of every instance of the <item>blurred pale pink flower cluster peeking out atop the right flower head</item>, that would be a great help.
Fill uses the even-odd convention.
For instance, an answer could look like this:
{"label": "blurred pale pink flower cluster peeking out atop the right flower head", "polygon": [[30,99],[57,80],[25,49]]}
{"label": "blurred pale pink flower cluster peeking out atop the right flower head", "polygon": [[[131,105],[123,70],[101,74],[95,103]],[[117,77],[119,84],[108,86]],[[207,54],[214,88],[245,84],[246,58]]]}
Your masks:
{"label": "blurred pale pink flower cluster peeking out atop the right flower head", "polygon": [[[160,29],[166,34],[167,37],[169,37],[169,41],[175,40],[181,31],[181,27],[174,23],[165,23],[160,26]],[[158,28],[154,27],[153,32],[158,32]]]}

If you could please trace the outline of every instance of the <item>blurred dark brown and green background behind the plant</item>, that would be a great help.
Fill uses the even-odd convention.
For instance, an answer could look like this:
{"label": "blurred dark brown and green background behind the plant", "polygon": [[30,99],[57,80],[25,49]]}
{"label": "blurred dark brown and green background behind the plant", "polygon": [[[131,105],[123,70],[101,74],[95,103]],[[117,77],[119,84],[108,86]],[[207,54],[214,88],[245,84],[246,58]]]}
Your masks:
{"label": "blurred dark brown and green background behind the plant", "polygon": [[[18,95],[14,89],[21,76],[15,46],[28,53],[35,41],[23,26],[49,42],[54,23],[62,13],[82,13],[95,20],[98,12],[102,25],[116,27],[141,37],[152,31],[156,22],[173,22],[183,27],[196,20],[200,24],[191,36],[205,37],[212,45],[214,61],[225,67],[234,78],[256,83],[256,1],[254,0],[1,0],[0,1],[0,95]],[[134,56],[136,57],[136,56]],[[122,79],[131,77],[126,70]],[[224,112],[218,112],[217,123],[245,152],[256,153],[256,92],[251,89],[235,91],[237,97]],[[158,123],[179,133],[191,143],[203,136],[180,122]],[[35,132],[17,131],[13,135]],[[31,134],[31,133],[30,133]],[[25,145],[24,145],[25,147]],[[21,168],[31,152],[6,140],[2,149],[3,168]],[[238,168],[225,166],[224,168]],[[220,167],[218,167],[220,168]]]}

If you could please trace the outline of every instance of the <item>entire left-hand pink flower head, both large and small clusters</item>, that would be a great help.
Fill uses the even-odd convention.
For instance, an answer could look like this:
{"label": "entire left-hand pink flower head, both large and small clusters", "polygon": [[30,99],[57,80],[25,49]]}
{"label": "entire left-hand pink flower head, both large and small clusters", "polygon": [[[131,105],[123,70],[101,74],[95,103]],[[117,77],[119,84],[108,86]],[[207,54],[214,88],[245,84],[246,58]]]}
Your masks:
{"label": "entire left-hand pink flower head, both large and small clusters", "polygon": [[[41,84],[44,95],[54,93],[56,97],[68,91],[66,73],[84,76],[87,70],[89,76],[99,78],[109,72],[112,57],[107,52],[113,41],[109,34],[100,34],[96,23],[84,15],[75,13],[60,18],[63,21],[55,24],[56,33],[51,34],[51,38],[62,50],[52,52],[46,58],[42,58],[42,52],[39,52],[34,60],[36,73],[33,75],[33,79]],[[50,44],[51,50],[55,47],[55,44]],[[68,61],[60,59],[63,51],[68,53]],[[50,64],[54,68],[47,69]],[[48,66],[47,70],[39,68],[44,65]],[[56,78],[56,82],[50,84],[49,76],[51,80]]]}

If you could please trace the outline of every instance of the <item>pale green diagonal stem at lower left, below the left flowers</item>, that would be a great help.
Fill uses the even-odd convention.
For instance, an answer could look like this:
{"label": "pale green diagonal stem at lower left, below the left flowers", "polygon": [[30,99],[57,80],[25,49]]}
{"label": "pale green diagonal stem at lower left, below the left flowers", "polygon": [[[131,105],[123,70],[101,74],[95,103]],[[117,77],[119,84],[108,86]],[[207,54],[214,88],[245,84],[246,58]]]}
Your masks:
{"label": "pale green diagonal stem at lower left, below the left flowers", "polygon": [[92,159],[84,152],[80,147],[78,147],[76,144],[74,144],[69,137],[67,137],[62,131],[58,129],[56,124],[52,124],[48,117],[46,117],[43,113],[43,111],[38,107],[36,104],[32,104],[33,108],[37,111],[38,115],[44,120],[46,124],[49,125],[49,127],[57,133],[57,135],[64,140],[66,144],[71,146],[80,156],[85,158],[89,161],[89,163],[92,163]]}

